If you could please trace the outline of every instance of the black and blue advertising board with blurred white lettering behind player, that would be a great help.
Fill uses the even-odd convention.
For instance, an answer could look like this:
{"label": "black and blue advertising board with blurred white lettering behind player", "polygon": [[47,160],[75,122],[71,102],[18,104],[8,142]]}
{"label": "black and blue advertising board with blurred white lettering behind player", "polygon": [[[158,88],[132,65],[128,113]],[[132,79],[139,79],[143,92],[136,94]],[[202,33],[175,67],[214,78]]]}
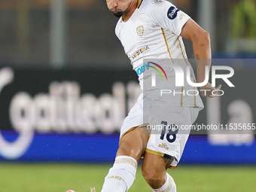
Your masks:
{"label": "black and blue advertising board with blurred white lettering behind player", "polygon": [[[197,127],[224,130],[192,130],[181,163],[256,164],[255,129],[248,129],[255,128],[255,72],[237,70],[231,81],[239,91],[224,84],[224,96],[203,100]],[[136,79],[118,70],[1,68],[0,160],[113,162],[120,126],[141,93]],[[239,123],[247,130],[225,130]]]}

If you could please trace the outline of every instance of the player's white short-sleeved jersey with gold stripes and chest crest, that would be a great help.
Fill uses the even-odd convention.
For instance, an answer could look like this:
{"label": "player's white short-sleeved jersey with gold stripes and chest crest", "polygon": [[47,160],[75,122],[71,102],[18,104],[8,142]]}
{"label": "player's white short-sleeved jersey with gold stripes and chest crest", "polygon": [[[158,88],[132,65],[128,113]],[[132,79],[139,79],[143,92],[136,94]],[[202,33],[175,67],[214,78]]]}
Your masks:
{"label": "player's white short-sleeved jersey with gold stripes and chest crest", "polygon": [[[187,61],[182,38],[179,36],[189,19],[187,14],[170,2],[139,0],[136,11],[128,21],[123,22],[122,18],[118,20],[115,33],[130,58],[133,69],[139,75],[145,95],[168,101],[172,106],[203,108],[197,87],[191,87],[185,80],[186,68],[189,66],[190,79],[196,82],[194,72]],[[175,86],[173,65],[183,69],[183,86]],[[152,72],[158,72],[155,76],[155,87],[151,81]],[[166,93],[160,96],[161,90],[166,90]]]}

